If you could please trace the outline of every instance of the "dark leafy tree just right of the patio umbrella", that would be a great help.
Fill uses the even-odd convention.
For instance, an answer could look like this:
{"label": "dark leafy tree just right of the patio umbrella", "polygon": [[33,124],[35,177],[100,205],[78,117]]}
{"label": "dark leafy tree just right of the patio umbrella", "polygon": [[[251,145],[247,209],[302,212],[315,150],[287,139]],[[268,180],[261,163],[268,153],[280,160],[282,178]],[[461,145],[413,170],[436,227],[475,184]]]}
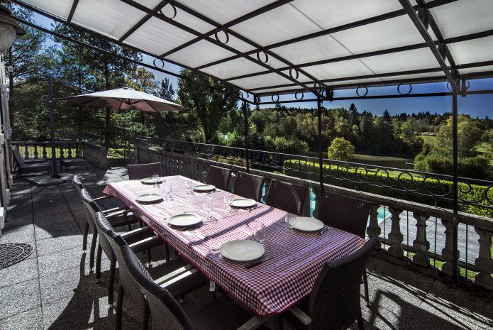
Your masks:
{"label": "dark leafy tree just right of the patio umbrella", "polygon": [[197,71],[183,69],[180,75],[184,78],[178,80],[178,98],[187,119],[196,121],[206,142],[211,142],[223,116],[236,108],[240,92]]}

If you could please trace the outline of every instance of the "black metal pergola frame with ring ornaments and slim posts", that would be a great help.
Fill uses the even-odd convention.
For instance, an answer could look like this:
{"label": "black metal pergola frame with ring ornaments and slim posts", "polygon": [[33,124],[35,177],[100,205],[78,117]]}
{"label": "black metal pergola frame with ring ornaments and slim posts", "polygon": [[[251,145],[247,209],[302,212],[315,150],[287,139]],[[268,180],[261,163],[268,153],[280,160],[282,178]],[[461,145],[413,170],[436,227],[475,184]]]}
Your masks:
{"label": "black metal pergola frame with ring ornaments and slim posts", "polygon": [[[487,90],[481,90],[481,91],[467,91],[468,89],[468,79],[484,79],[484,78],[489,78],[493,77],[493,71],[489,70],[484,70],[482,72],[474,72],[474,73],[467,73],[460,75],[459,70],[465,69],[465,68],[475,68],[475,67],[486,67],[489,65],[493,65],[493,60],[489,61],[484,61],[484,62],[472,62],[472,63],[466,63],[462,65],[457,65],[452,53],[450,53],[450,49],[448,45],[450,43],[457,43],[461,41],[467,41],[467,40],[475,40],[478,38],[484,38],[488,36],[493,35],[493,30],[488,30],[488,31],[482,31],[480,33],[472,33],[468,35],[460,35],[458,37],[454,38],[444,38],[443,34],[441,33],[440,28],[438,27],[435,19],[433,18],[433,15],[430,13],[430,9],[443,6],[446,4],[453,3],[458,0],[432,0],[432,1],[423,1],[423,0],[416,0],[417,5],[412,6],[409,0],[399,0],[399,3],[402,6],[402,9],[392,11],[389,13],[384,13],[381,15],[377,15],[374,17],[370,18],[365,18],[360,21],[355,21],[352,23],[346,23],[341,26],[336,26],[333,28],[328,28],[323,31],[317,31],[315,33],[309,33],[307,35],[301,35],[296,38],[292,38],[289,40],[284,40],[282,42],[278,43],[272,43],[270,45],[259,45],[255,43],[253,40],[250,40],[249,38],[245,38],[243,35],[240,33],[237,33],[236,31],[233,31],[231,27],[235,26],[238,23],[248,21],[251,18],[254,18],[256,16],[261,15],[262,13],[267,13],[268,11],[272,11],[274,9],[279,8],[280,6],[284,6],[292,2],[292,0],[277,0],[272,2],[271,4],[267,4],[266,6],[263,6],[262,8],[255,9],[254,11],[251,11],[250,13],[246,13],[243,16],[240,16],[238,18],[233,19],[232,21],[229,21],[227,23],[217,23],[213,19],[206,17],[202,15],[201,13],[195,11],[192,8],[189,8],[185,6],[184,4],[181,4],[175,0],[169,0],[169,1],[160,1],[157,6],[155,6],[153,9],[149,9],[141,4],[139,4],[136,1],[133,0],[120,0],[122,3],[127,4],[128,6],[132,6],[133,9],[138,9],[139,11],[142,11],[145,13],[145,16],[138,21],[138,23],[135,23],[135,25],[131,26],[131,28],[126,31],[126,33],[121,36],[121,38],[118,38],[118,40],[109,38],[106,35],[101,35],[99,33],[96,33],[94,31],[90,31],[87,28],[82,28],[81,26],[77,26],[72,22],[72,18],[74,17],[74,13],[77,11],[77,6],[79,4],[79,0],[72,0],[72,6],[70,9],[70,15],[67,17],[67,19],[59,18],[57,16],[54,16],[50,13],[46,13],[45,11],[42,11],[40,9],[37,9],[33,6],[30,6],[29,4],[24,3],[22,0],[11,0],[14,4],[18,4],[19,6],[23,6],[26,9],[30,9],[31,11],[34,11],[36,13],[40,13],[43,16],[46,16],[48,18],[51,18],[54,21],[57,21],[59,23],[63,23],[67,26],[70,26],[72,28],[75,28],[79,31],[84,31],[86,33],[92,34],[92,35],[97,35],[99,38],[106,38],[106,40],[109,40],[112,43],[115,43],[116,45],[121,45],[126,48],[130,48],[133,50],[138,51],[139,53],[143,53],[146,55],[150,55],[151,57],[155,57],[154,60],[154,65],[148,65],[146,63],[140,62],[140,61],[135,61],[133,59],[128,59],[126,57],[122,57],[121,55],[116,55],[113,54],[107,50],[101,50],[99,48],[94,47],[93,45],[87,45],[86,43],[82,43],[79,40],[74,40],[72,38],[69,38],[65,35],[61,35],[60,33],[55,33],[54,31],[50,31],[46,28],[42,28],[40,26],[36,26],[33,23],[30,23],[28,21],[24,21],[21,18],[16,18],[17,21],[20,23],[25,23],[28,26],[32,26],[33,28],[38,28],[40,31],[44,31],[45,33],[50,33],[51,35],[55,35],[57,38],[62,38],[65,40],[69,40],[71,42],[77,43],[78,45],[81,45],[83,47],[91,48],[93,50],[100,51],[101,53],[106,53],[109,55],[117,56],[121,58],[122,60],[128,60],[129,62],[133,62],[136,65],[142,65],[143,67],[147,67],[153,70],[157,70],[158,72],[165,73],[167,75],[172,75],[175,77],[180,77],[187,79],[187,77],[182,77],[182,75],[176,74],[174,72],[170,72],[167,70],[164,70],[164,61],[170,62],[172,64],[178,65],[180,67],[185,67],[189,70],[202,70],[206,67],[211,67],[212,65],[220,65],[223,62],[228,62],[230,60],[235,60],[239,58],[244,58],[246,60],[249,60],[256,65],[260,65],[261,67],[264,67],[265,70],[261,72],[255,72],[255,73],[250,73],[247,75],[236,75],[236,76],[231,76],[226,79],[218,79],[214,76],[208,75],[204,72],[204,75],[211,76],[215,79],[218,79],[218,81],[223,82],[224,84],[232,84],[233,86],[237,87],[236,85],[233,84],[234,80],[240,79],[240,78],[246,78],[246,77],[255,77],[255,76],[262,76],[265,74],[269,73],[276,73],[277,75],[288,79],[290,81],[289,84],[278,84],[274,86],[266,86],[266,87],[255,87],[251,89],[244,89],[238,87],[240,90],[243,90],[244,92],[238,97],[240,101],[243,102],[242,106],[242,111],[244,114],[244,119],[245,119],[245,155],[246,155],[246,167],[247,170],[249,170],[249,163],[248,163],[248,148],[249,148],[249,143],[248,143],[248,104],[254,104],[255,106],[257,105],[267,105],[267,104],[277,104],[277,103],[294,103],[294,102],[309,102],[309,101],[316,101],[317,102],[317,109],[318,109],[318,153],[319,153],[319,167],[320,167],[320,184],[321,188],[323,189],[323,160],[322,160],[322,153],[323,153],[323,145],[321,141],[321,110],[323,108],[323,101],[336,101],[336,100],[349,100],[349,99],[389,99],[389,98],[400,98],[400,97],[452,97],[452,104],[453,104],[453,111],[452,111],[452,118],[453,118],[453,228],[454,228],[454,246],[453,246],[453,259],[454,259],[454,265],[453,265],[453,280],[455,284],[458,283],[458,95],[461,97],[465,97],[466,95],[474,95],[474,94],[493,94],[493,89],[487,89]],[[175,13],[177,13],[177,10],[184,11],[187,14],[194,16],[194,18],[203,21],[205,23],[210,24],[211,26],[214,26],[214,28],[210,31],[207,31],[206,33],[201,33],[199,31],[194,30],[193,28],[189,28],[188,26],[184,26],[182,23],[179,23],[177,21],[174,21],[172,17],[167,17],[165,16],[164,13],[162,13],[162,9],[165,8],[165,6],[171,6],[172,10]],[[396,48],[388,48],[384,50],[376,50],[372,52],[367,52],[367,53],[360,53],[360,54],[355,54],[355,55],[348,55],[348,56],[343,56],[343,57],[336,57],[336,58],[328,58],[326,60],[319,60],[316,62],[306,62],[302,63],[299,65],[294,65],[292,62],[289,60],[277,55],[276,53],[272,52],[273,48],[277,48],[283,45],[289,45],[292,43],[297,43],[302,40],[310,40],[313,38],[318,38],[323,35],[330,35],[331,33],[336,33],[340,31],[346,31],[350,30],[351,28],[357,28],[360,26],[365,26],[370,23],[377,23],[380,21],[384,21],[390,18],[396,18],[398,16],[409,16],[411,19],[412,23],[414,23],[414,26],[416,28],[416,31],[418,31],[423,38],[422,43],[416,43],[414,45],[405,45],[401,47],[396,47]],[[191,33],[194,35],[194,38],[192,40],[187,41],[186,43],[182,43],[182,45],[179,45],[171,50],[167,50],[165,53],[162,53],[160,55],[155,55],[153,53],[146,52],[142,49],[135,48],[131,45],[125,44],[124,41],[126,38],[128,38],[132,33],[138,30],[143,24],[145,24],[150,18],[157,18],[161,21],[164,21],[165,23],[171,24],[172,26],[175,26],[176,28],[181,29],[182,31],[186,31],[187,33]],[[433,40],[432,36],[430,33],[428,33],[428,28],[431,28],[431,31],[433,31],[434,35],[436,36],[437,40]],[[239,50],[236,50],[235,48],[232,48],[230,45],[227,45],[228,40],[229,40],[229,35],[234,36],[235,38],[238,38],[238,40],[243,41],[243,43],[247,43],[248,45],[252,46],[254,49],[250,50],[248,52],[241,52]],[[226,41],[223,42],[222,38],[226,38]],[[223,58],[222,60],[215,60],[213,62],[206,63],[204,65],[199,65],[196,67],[188,67],[187,65],[183,65],[181,63],[177,63],[173,60],[168,59],[167,57],[176,53],[179,50],[183,50],[184,48],[187,48],[189,45],[193,45],[194,43],[198,43],[199,41],[206,40],[209,43],[212,43],[223,50],[228,50],[229,52],[233,53],[231,57],[226,57]],[[344,60],[353,60],[353,59],[361,59],[364,57],[370,57],[370,56],[375,56],[375,55],[384,55],[384,54],[391,54],[391,53],[399,53],[405,50],[416,50],[416,49],[421,49],[421,48],[428,48],[431,53],[433,54],[433,57],[436,59],[438,62],[439,67],[433,67],[433,68],[427,68],[427,69],[419,69],[419,70],[408,70],[408,71],[401,71],[401,72],[387,72],[383,74],[373,74],[373,75],[361,75],[358,77],[340,77],[336,79],[316,79],[316,77],[311,76],[306,70],[304,70],[304,67],[311,66],[311,65],[323,65],[323,64],[328,64],[328,63],[334,63],[334,62],[341,62]],[[251,55],[256,55],[256,58],[251,56]],[[283,67],[278,67],[274,68],[271,67],[270,65],[267,65],[267,58],[272,57],[275,58],[276,60],[284,63]],[[264,60],[265,59],[265,60]],[[162,66],[159,67],[156,65],[156,61],[161,62]],[[448,63],[447,63],[448,61]],[[289,70],[288,74],[282,71]],[[379,82],[368,82],[365,84],[355,84],[353,82],[350,82],[351,80],[355,79],[370,79],[370,78],[386,78],[386,77],[393,77],[393,76],[399,76],[399,75],[416,75],[416,74],[429,74],[436,72],[436,76],[432,77],[420,77],[420,78],[409,78],[409,79],[382,79]],[[305,77],[309,78],[309,81],[305,82],[300,82],[298,80],[299,75],[304,75]],[[340,82],[343,81],[348,81],[347,84],[343,84]],[[332,82],[338,82],[338,84],[331,84]],[[448,88],[450,92],[440,92],[440,93],[422,93],[422,94],[410,94],[412,86],[411,84],[421,84],[421,83],[430,83],[430,82],[447,82],[448,83]],[[401,86],[402,85],[409,85],[409,93],[403,93],[401,92]],[[379,87],[379,86],[397,86],[397,91],[399,94],[388,94],[388,95],[375,95],[375,96],[367,96],[368,92],[368,87]],[[450,87],[449,87],[450,86]],[[262,92],[262,90],[265,89],[279,89],[278,92]],[[356,89],[356,92],[358,94],[357,97],[334,97],[334,91],[338,89]],[[364,91],[364,92],[362,92]],[[246,92],[246,95],[245,95]],[[311,94],[314,94],[314,98],[304,98],[304,93],[309,92]],[[292,99],[283,99],[279,100],[279,95],[282,94],[294,94],[294,98]],[[250,101],[250,96],[253,97],[253,101]],[[271,101],[262,101],[262,97],[269,97]]]}

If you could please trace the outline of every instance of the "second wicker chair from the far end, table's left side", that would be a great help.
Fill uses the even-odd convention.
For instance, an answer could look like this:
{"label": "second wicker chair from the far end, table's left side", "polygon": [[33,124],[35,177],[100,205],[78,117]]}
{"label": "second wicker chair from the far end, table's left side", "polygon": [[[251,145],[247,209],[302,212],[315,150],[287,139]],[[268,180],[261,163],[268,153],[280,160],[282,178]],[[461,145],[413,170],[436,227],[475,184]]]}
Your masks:
{"label": "second wicker chair from the far end, table's left side", "polygon": [[91,248],[89,251],[89,269],[94,269],[94,255],[96,253],[96,242],[98,238],[98,231],[96,230],[96,224],[94,223],[94,211],[101,211],[107,217],[107,219],[111,222],[111,226],[120,227],[120,226],[128,226],[131,224],[135,224],[138,222],[138,219],[132,213],[128,212],[128,210],[118,210],[114,209],[110,210],[101,210],[99,204],[96,203],[96,199],[94,199],[91,194],[87,191],[87,189],[82,188],[80,190],[80,198],[82,200],[82,204],[84,205],[84,211],[86,214],[86,224],[84,226],[84,232],[82,236],[82,251],[87,250],[87,236],[89,236],[89,229],[92,232],[92,241]]}

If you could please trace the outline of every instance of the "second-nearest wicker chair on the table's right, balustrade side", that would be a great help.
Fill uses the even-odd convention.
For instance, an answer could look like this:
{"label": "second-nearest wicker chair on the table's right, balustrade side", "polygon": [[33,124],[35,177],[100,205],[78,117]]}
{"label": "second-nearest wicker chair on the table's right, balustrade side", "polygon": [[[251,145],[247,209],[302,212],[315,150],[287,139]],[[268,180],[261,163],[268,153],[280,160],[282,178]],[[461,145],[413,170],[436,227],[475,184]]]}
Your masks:
{"label": "second-nearest wicker chair on the table's right, balustrade side", "polygon": [[301,215],[308,197],[308,188],[291,183],[271,180],[264,200],[267,205],[292,214]]}

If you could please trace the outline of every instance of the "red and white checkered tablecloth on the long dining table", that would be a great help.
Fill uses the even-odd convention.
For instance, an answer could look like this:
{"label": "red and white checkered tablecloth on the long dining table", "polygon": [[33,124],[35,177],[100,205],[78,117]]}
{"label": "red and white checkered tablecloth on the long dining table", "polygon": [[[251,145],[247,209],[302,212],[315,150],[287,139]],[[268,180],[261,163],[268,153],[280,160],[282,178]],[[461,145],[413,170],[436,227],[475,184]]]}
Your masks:
{"label": "red and white checkered tablecloth on the long dining table", "polygon": [[[189,263],[258,316],[284,312],[299,302],[309,295],[326,260],[349,255],[365,244],[359,236],[338,229],[322,235],[318,231],[291,231],[284,222],[285,211],[260,203],[256,209],[229,213],[223,200],[228,192],[217,189],[210,194],[187,194],[187,178],[172,176],[165,180],[172,185],[172,202],[135,202],[139,194],[155,190],[139,180],[110,183],[104,194],[120,199]],[[217,221],[206,222],[205,200],[213,202],[212,215]],[[204,225],[192,231],[167,226],[167,216],[185,212],[203,216]],[[221,258],[216,248],[226,241],[251,238],[248,224],[253,220],[265,225],[265,258],[272,258],[250,269],[245,263]]]}

